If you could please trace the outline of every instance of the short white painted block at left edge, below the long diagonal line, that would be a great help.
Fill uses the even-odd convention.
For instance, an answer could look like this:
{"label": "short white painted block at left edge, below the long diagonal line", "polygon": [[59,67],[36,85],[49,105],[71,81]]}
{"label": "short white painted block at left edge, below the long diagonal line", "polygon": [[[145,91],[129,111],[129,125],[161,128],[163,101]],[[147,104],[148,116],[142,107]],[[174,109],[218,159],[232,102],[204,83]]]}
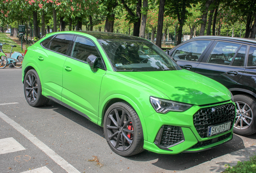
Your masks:
{"label": "short white painted block at left edge, below the long diagonal line", "polygon": [[14,138],[0,139],[0,155],[22,150],[25,150],[25,148]]}

